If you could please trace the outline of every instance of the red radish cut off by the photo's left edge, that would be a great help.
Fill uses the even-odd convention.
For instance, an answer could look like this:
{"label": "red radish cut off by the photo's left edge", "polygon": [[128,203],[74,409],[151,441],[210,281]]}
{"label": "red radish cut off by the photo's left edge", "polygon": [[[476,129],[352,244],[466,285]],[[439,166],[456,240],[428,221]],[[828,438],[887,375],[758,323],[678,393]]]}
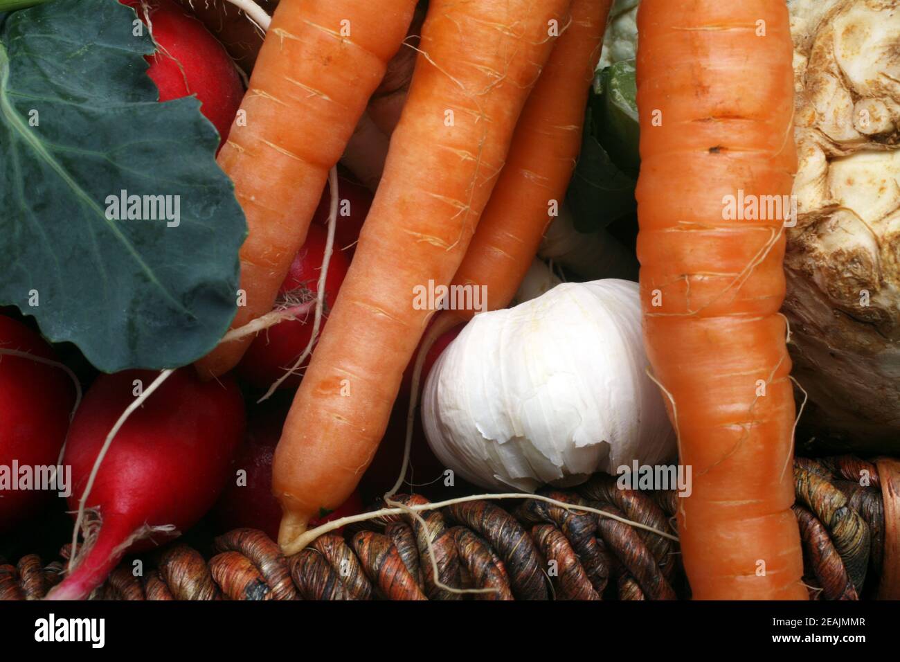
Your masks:
{"label": "red radish cut off by the photo's left edge", "polygon": [[[0,352],[16,351],[56,360],[50,346],[20,322],[0,316]],[[0,531],[35,512],[46,491],[12,489],[14,461],[19,467],[55,467],[66,440],[75,385],[66,372],[31,358],[0,353],[0,467],[9,472],[10,489],[0,481]]]}

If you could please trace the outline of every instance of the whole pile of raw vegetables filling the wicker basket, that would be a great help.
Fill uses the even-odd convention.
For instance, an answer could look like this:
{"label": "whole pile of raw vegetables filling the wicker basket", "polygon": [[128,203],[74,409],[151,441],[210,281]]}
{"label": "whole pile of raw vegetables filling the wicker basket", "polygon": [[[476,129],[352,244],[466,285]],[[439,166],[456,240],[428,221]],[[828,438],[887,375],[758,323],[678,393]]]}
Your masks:
{"label": "whole pile of raw vegetables filling the wicker basket", "polygon": [[805,598],[795,432],[896,451],[898,42],[889,0],[0,0],[0,531],[81,599],[678,462],[693,596]]}

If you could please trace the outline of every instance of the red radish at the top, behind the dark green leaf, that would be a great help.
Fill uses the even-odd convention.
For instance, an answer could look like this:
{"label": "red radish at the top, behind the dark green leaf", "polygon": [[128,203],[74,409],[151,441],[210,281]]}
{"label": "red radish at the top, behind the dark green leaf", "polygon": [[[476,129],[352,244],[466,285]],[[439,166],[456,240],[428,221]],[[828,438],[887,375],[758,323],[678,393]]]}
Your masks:
{"label": "red radish at the top, behind the dark green leaf", "polygon": [[120,0],[147,23],[157,52],[147,73],[159,88],[159,101],[196,95],[201,112],[219,131],[221,147],[244,98],[238,69],[219,41],[172,0]]}

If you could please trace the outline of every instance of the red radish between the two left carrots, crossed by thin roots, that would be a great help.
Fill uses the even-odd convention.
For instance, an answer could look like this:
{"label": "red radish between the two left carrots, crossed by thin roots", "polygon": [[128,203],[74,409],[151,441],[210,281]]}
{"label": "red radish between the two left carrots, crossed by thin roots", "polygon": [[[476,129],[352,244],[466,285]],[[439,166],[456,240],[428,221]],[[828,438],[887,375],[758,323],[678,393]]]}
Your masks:
{"label": "red radish between the two left carrots, crossed by thin roots", "polygon": [[[315,301],[326,240],[327,231],[320,225],[310,226],[306,243],[293,259],[291,269],[279,290],[280,302],[293,305]],[[342,251],[335,250],[331,254],[329,273],[325,278],[323,324],[328,319],[328,313],[338,297],[338,290],[349,267],[349,260]],[[274,384],[279,377],[284,376],[285,370],[293,366],[303,349],[306,349],[312,334],[312,316],[311,310],[296,320],[279,322],[266,331],[260,331],[238,364],[238,375],[247,383],[260,388]],[[284,380],[280,388],[296,387],[301,379],[301,374],[292,375]]]}

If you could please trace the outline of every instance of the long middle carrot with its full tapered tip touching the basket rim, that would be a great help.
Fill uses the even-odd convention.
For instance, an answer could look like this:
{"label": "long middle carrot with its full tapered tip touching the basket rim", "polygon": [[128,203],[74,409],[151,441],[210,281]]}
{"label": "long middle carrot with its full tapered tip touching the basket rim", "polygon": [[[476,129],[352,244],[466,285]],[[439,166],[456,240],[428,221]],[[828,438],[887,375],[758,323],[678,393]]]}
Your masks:
{"label": "long middle carrot with its full tapered tip touching the basket rim", "polygon": [[372,461],[433,311],[417,286],[449,283],[509,150],[568,0],[432,0],[381,186],[275,451],[279,543],[353,492]]}

